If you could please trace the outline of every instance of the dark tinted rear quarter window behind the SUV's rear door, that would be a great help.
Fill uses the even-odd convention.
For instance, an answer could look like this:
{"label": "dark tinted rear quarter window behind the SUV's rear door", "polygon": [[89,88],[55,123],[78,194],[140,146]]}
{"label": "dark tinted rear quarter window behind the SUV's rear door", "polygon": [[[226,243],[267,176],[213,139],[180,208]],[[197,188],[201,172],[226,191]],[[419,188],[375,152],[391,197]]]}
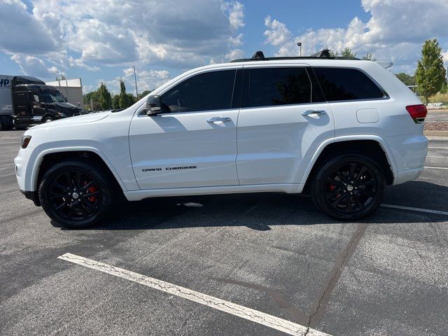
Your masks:
{"label": "dark tinted rear quarter window behind the SUV's rear door", "polygon": [[384,97],[379,87],[356,69],[313,68],[328,102]]}

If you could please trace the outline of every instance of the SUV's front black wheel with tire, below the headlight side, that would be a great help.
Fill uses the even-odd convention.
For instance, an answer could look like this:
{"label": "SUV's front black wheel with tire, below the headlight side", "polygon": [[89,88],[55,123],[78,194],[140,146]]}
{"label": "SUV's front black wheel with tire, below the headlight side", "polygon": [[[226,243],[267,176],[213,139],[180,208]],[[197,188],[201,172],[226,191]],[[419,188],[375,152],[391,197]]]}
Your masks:
{"label": "SUV's front black wheel with tire, below the headlight side", "polygon": [[110,214],[116,181],[89,162],[67,160],[45,172],[38,196],[45,213],[66,228],[87,228]]}

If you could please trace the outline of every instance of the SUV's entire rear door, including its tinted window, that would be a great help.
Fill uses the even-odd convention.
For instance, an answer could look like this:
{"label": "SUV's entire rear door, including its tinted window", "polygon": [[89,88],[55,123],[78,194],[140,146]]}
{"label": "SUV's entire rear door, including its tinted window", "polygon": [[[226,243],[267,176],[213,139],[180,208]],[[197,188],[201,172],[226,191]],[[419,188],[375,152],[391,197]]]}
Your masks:
{"label": "SUV's entire rear door, including its tinted window", "polygon": [[300,183],[318,146],[335,137],[332,109],[326,102],[312,103],[316,94],[311,94],[306,67],[255,67],[244,67],[237,128],[239,182]]}

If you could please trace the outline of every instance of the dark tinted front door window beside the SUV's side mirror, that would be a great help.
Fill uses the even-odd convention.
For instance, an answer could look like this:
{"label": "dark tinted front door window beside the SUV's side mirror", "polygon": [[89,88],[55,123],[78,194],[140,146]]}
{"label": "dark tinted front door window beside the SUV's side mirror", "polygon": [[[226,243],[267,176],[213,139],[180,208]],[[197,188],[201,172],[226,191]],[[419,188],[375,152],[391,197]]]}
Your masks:
{"label": "dark tinted front door window beside the SUV's side mirror", "polygon": [[230,109],[235,70],[202,73],[188,78],[163,94],[171,112]]}

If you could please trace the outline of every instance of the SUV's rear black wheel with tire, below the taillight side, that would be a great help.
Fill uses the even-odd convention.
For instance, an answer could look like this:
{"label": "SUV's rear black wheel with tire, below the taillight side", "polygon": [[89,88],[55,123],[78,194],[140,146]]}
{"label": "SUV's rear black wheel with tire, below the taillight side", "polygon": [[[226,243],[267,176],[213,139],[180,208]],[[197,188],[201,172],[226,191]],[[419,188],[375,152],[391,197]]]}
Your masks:
{"label": "SUV's rear black wheel with tire, below the taillight side", "polygon": [[311,198],[328,216],[356,221],[378,209],[384,198],[386,176],[372,158],[342,153],[322,162],[311,180]]}

